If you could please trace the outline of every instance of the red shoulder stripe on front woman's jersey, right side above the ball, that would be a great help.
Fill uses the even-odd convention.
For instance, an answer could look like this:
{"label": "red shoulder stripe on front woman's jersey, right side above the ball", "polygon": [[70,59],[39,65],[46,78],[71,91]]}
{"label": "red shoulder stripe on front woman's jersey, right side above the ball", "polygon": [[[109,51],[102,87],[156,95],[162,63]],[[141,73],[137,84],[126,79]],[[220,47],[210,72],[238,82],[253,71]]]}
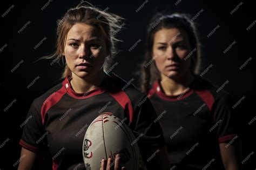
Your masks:
{"label": "red shoulder stripe on front woman's jersey, right side above the ball", "polygon": [[[110,92],[111,96],[124,108],[127,115],[129,115],[130,122],[132,122],[133,108],[130,98],[123,90],[117,92]],[[128,112],[128,113],[127,113]]]}

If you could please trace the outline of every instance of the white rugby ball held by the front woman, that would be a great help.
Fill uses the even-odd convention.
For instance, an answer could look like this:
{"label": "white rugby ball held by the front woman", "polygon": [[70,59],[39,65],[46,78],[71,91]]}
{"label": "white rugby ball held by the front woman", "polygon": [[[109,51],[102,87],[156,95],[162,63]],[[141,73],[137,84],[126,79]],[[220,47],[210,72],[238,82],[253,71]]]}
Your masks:
{"label": "white rugby ball held by the front woman", "polygon": [[[87,170],[100,169],[100,161],[120,154],[121,166],[139,169],[139,147],[130,128],[110,112],[92,121],[84,136],[83,159]],[[114,166],[114,162],[112,164]]]}

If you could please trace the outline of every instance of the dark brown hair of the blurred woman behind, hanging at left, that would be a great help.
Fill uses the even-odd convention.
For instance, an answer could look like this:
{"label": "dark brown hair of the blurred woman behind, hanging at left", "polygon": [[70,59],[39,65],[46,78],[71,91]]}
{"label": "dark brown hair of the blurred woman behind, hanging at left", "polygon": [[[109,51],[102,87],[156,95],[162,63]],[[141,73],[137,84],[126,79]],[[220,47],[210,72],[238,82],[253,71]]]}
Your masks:
{"label": "dark brown hair of the blurred woman behind, hanging at left", "polygon": [[149,90],[154,81],[160,78],[160,72],[157,69],[156,62],[152,59],[152,49],[154,35],[157,31],[163,28],[178,28],[187,32],[191,49],[196,48],[196,52],[191,56],[191,72],[196,75],[200,69],[200,44],[196,33],[195,25],[185,14],[173,13],[172,15],[157,13],[152,19],[147,29],[146,51],[144,63],[141,66],[142,78],[141,89],[144,93],[149,93]]}

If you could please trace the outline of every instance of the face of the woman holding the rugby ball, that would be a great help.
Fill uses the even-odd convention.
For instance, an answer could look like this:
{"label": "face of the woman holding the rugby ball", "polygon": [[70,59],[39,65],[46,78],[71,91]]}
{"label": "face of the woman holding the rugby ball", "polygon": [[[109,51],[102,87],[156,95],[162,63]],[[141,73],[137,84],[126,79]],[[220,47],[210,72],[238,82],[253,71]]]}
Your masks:
{"label": "face of the woman holding the rugby ball", "polygon": [[89,78],[103,69],[106,44],[96,26],[76,23],[66,36],[64,54],[73,74]]}

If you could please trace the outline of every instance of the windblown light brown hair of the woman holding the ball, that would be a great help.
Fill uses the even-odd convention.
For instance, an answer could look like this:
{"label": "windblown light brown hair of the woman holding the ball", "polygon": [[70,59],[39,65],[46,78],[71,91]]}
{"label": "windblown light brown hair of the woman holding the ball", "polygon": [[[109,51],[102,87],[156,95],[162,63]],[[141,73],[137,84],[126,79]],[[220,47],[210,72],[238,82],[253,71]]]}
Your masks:
{"label": "windblown light brown hair of the woman holding the ball", "polygon": [[[109,53],[109,56],[105,59],[104,70],[106,70],[111,63],[112,57],[116,55],[115,44],[120,40],[118,40],[115,35],[116,30],[120,30],[122,28],[122,21],[123,18],[118,15],[114,15],[113,13],[105,10],[100,10],[88,2],[82,2],[76,6],[76,8],[69,9],[61,19],[58,19],[57,49],[52,53],[52,55],[42,58],[53,59],[52,63],[60,63],[60,61],[62,61],[62,63],[65,64],[65,57],[62,54],[64,52],[66,36],[73,25],[76,23],[84,23],[97,26],[102,33],[102,37],[106,42],[107,53]],[[65,64],[62,78],[65,78],[70,74],[71,70],[68,65]]]}

